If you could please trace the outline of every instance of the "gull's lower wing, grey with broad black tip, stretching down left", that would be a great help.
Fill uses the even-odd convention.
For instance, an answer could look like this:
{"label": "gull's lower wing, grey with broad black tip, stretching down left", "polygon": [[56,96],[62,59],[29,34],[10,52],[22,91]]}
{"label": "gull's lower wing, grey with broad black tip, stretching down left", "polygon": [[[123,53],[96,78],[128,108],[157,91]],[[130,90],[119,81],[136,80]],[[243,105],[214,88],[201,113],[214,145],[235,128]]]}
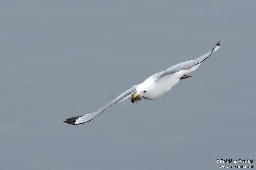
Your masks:
{"label": "gull's lower wing, grey with broad black tip, stretching down left", "polygon": [[89,122],[92,119],[94,119],[95,117],[102,114],[108,107],[112,106],[113,104],[116,104],[117,102],[119,102],[121,100],[124,101],[125,99],[129,98],[130,94],[136,91],[136,87],[138,85],[134,85],[129,90],[126,90],[125,92],[120,94],[116,99],[112,100],[110,103],[108,103],[106,106],[102,107],[100,110],[98,110],[96,112],[86,114],[86,115],[83,115],[83,116],[68,118],[66,121],[63,121],[63,122],[68,123],[68,124],[72,124],[72,125],[78,125],[78,124],[83,124],[83,123]]}

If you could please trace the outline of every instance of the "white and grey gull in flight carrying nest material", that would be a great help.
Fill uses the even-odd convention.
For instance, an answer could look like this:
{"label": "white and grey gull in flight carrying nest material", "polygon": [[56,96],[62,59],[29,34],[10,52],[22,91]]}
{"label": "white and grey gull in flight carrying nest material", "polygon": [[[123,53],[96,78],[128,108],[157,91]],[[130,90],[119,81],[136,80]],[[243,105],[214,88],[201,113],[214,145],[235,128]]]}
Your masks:
{"label": "white and grey gull in flight carrying nest material", "polygon": [[[176,85],[181,79],[191,77],[187,74],[195,71],[206,58],[208,58],[213,52],[219,49],[220,44],[221,42],[219,41],[210,52],[196,58],[195,60],[185,61],[176,64],[164,71],[150,76],[143,83],[132,86],[130,89],[120,94],[116,99],[112,100],[110,103],[108,103],[106,106],[102,107],[96,112],[68,118],[66,119],[66,121],[63,122],[71,125],[79,125],[89,122],[95,117],[102,114],[108,107],[111,107],[112,105],[124,101],[128,98],[143,97],[144,99],[149,100],[159,98],[164,93],[171,90],[171,88]],[[135,92],[136,94],[133,95],[133,93]]]}

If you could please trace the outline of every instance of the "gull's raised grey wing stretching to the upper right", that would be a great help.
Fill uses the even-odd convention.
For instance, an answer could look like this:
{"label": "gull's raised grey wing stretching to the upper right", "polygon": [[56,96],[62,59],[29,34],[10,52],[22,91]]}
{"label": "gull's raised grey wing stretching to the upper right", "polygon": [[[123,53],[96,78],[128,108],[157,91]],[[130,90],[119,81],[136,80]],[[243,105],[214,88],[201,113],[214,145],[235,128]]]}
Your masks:
{"label": "gull's raised grey wing stretching to the upper right", "polygon": [[152,75],[152,77],[155,78],[155,80],[158,80],[159,78],[161,77],[164,77],[168,74],[173,74],[173,73],[176,73],[178,71],[181,71],[181,70],[186,70],[186,69],[189,69],[190,67],[193,67],[201,62],[203,62],[206,58],[208,58],[212,52],[214,51],[217,51],[218,48],[220,47],[220,44],[221,42],[219,41],[215,47],[212,49],[212,51],[206,53],[205,55],[202,55],[201,57],[198,57],[196,58],[195,60],[190,60],[190,61],[185,61],[185,62],[182,62],[182,63],[179,63],[179,64],[176,64],[162,72],[159,72],[159,73],[156,73],[154,75]]}

